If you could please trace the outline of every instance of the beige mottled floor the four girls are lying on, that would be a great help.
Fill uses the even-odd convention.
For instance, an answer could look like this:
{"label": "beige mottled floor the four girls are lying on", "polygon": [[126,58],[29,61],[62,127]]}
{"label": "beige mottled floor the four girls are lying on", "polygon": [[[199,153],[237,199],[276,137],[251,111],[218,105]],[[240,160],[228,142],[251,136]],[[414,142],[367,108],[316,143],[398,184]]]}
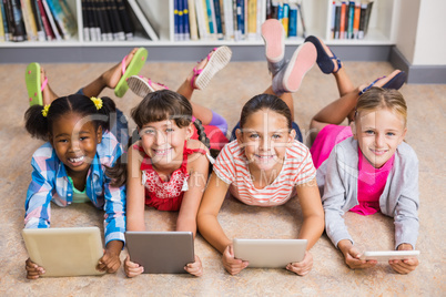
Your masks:
{"label": "beige mottled floor the four girls are lying on", "polygon": [[[119,60],[119,59],[116,59]],[[97,78],[111,64],[45,64],[48,78],[58,94],[77,91]],[[146,63],[142,74],[175,89],[193,63]],[[346,70],[356,84],[369,82],[389,73],[386,62],[346,62]],[[314,268],[298,277],[284,269],[245,269],[237,276],[225,273],[220,254],[200,235],[196,254],[203,260],[204,275],[142,275],[134,279],[123,269],[101,277],[42,278],[27,280],[27,252],[20,235],[23,227],[23,204],[30,182],[30,158],[42,143],[32,140],[23,127],[28,107],[23,74],[24,64],[0,64],[0,296],[445,296],[446,294],[446,199],[445,199],[445,109],[446,85],[405,85],[402,93],[408,103],[407,142],[419,158],[420,231],[417,248],[422,252],[419,267],[409,275],[397,275],[388,265],[369,270],[348,269],[343,257],[325,235],[312,249]],[[221,71],[194,100],[221,113],[234,126],[243,103],[268,85],[263,62],[231,63]],[[114,99],[112,91],[104,94]],[[295,119],[302,132],[310,119],[325,104],[337,98],[334,79],[313,68],[295,94]],[[130,113],[139,99],[130,91],[116,104]],[[296,237],[301,222],[297,199],[273,208],[242,205],[229,198],[219,219],[229,237],[259,238]],[[102,213],[91,205],[53,206],[52,226],[101,226]],[[153,231],[174,229],[175,213],[146,209],[146,227]],[[381,214],[362,217],[346,216],[353,237],[364,247],[393,247],[393,219]],[[354,229],[353,229],[354,227]],[[122,259],[126,252],[122,253]],[[69,255],[67,255],[69,256]]]}

